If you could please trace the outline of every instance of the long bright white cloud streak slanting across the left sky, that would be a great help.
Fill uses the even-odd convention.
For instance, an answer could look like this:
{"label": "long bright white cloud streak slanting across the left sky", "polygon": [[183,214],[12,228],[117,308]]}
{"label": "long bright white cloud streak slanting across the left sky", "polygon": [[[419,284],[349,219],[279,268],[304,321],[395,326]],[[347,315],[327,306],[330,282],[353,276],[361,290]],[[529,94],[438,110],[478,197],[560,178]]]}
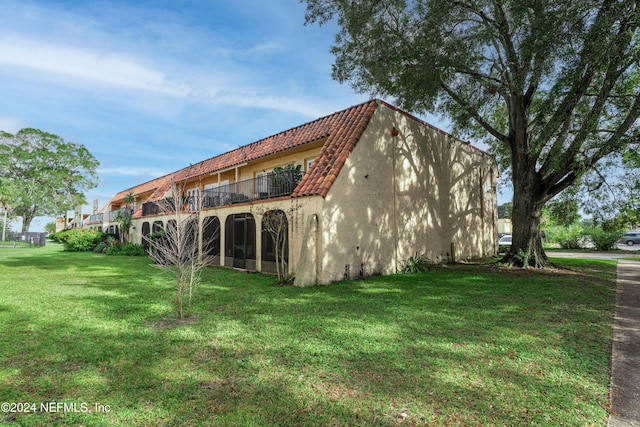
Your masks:
{"label": "long bright white cloud streak slanting across the left sky", "polygon": [[[258,50],[275,49],[266,44]],[[0,36],[0,64],[23,67],[40,73],[55,73],[62,76],[68,85],[78,86],[77,79],[86,82],[133,89],[179,98],[191,98],[204,104],[260,108],[288,111],[307,117],[318,117],[326,110],[317,108],[304,98],[273,96],[277,85],[250,87],[238,80],[251,80],[252,73],[244,67],[233,68],[233,73],[222,70],[190,68],[185,63],[171,65],[173,69],[161,71],[147,67],[132,59],[132,54],[100,52],[62,44],[46,43],[23,37]],[[232,69],[229,67],[229,69]],[[212,78],[211,74],[215,77]],[[181,76],[182,82],[172,81],[170,75]],[[235,83],[231,83],[236,80]],[[222,89],[233,87],[233,90]],[[132,95],[131,93],[129,95]],[[129,105],[142,110],[161,109],[169,112],[175,106],[165,105],[154,98],[127,97]],[[133,100],[132,100],[133,99]],[[133,102],[133,104],[131,104]]]}

